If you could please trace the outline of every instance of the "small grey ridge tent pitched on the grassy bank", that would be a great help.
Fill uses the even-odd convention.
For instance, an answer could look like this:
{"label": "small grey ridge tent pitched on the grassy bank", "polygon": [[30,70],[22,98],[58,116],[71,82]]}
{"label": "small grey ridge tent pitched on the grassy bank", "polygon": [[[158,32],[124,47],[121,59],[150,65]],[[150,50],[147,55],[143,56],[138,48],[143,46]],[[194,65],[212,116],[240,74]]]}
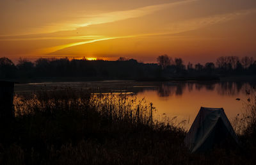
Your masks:
{"label": "small grey ridge tent pitched on the grassy bank", "polygon": [[238,144],[223,108],[201,107],[185,138],[191,152],[204,152],[216,145]]}

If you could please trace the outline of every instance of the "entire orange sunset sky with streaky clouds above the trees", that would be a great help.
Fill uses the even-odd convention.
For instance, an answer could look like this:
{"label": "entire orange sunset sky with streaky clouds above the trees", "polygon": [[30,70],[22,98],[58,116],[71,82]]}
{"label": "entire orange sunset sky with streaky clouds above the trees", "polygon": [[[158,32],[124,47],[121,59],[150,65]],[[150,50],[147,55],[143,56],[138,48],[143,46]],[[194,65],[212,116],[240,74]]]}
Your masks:
{"label": "entire orange sunset sky with streaky clouds above the trees", "polygon": [[0,57],[256,56],[255,0],[1,0]]}

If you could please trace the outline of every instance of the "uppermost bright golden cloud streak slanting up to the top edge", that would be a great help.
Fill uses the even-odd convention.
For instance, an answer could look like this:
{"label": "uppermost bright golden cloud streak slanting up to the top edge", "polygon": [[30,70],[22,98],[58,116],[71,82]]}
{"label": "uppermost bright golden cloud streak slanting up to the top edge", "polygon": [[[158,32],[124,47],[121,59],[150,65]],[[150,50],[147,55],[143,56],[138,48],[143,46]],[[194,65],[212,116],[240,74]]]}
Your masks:
{"label": "uppermost bright golden cloud streak slanting up to the top edge", "polygon": [[83,13],[79,13],[74,16],[72,20],[66,20],[65,22],[57,22],[45,25],[40,28],[36,28],[33,31],[37,31],[39,33],[52,33],[55,31],[70,31],[76,30],[77,28],[95,25],[95,24],[105,24],[109,22],[115,22],[118,20],[132,19],[136,17],[143,17],[145,15],[149,15],[151,13],[157,12],[159,10],[164,10],[166,8],[172,8],[175,6],[192,3],[199,0],[183,0],[183,1],[175,1],[172,3],[165,4],[157,4],[152,6],[145,6],[141,8],[136,8],[134,10],[125,10],[125,11],[116,11],[116,12],[108,12],[108,13],[99,13],[94,15],[83,15]]}

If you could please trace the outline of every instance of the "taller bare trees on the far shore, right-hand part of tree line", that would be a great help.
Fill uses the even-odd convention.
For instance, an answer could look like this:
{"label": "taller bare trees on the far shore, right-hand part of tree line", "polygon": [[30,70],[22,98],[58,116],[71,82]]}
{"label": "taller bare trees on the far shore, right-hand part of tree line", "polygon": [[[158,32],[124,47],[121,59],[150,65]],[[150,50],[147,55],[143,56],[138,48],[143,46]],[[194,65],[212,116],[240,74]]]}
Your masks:
{"label": "taller bare trees on the far shore, right-hand part of tree line", "polygon": [[256,74],[256,60],[252,57],[244,56],[221,56],[216,59],[216,63],[188,62],[187,65],[181,58],[174,58],[168,55],[158,56],[157,63],[165,74],[190,74],[190,75],[254,75]]}

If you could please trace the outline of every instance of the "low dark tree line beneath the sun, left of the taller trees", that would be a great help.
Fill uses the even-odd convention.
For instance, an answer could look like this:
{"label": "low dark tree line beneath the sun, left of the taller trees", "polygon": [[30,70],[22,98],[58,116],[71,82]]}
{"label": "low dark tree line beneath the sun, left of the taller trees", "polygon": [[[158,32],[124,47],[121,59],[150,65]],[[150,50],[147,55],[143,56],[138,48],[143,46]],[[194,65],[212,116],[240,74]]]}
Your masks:
{"label": "low dark tree line beneath the sun, left of the taller trees", "polygon": [[8,58],[0,58],[1,79],[33,79],[38,77],[91,77],[100,79],[134,79],[154,76],[157,64],[138,63],[135,59],[117,61],[102,59],[89,61],[68,58],[39,58],[32,62],[20,58],[15,65]]}

